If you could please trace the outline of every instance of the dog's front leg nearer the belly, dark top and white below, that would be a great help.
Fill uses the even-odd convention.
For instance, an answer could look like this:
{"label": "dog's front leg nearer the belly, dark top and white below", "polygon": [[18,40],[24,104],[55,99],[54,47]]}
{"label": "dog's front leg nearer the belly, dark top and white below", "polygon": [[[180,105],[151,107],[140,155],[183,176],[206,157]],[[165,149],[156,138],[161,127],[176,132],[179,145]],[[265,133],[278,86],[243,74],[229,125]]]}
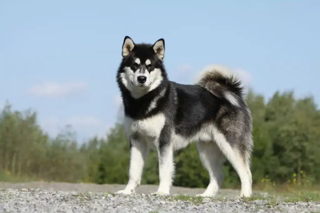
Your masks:
{"label": "dog's front leg nearer the belly, dark top and white below", "polygon": [[[167,130],[167,131],[166,131]],[[159,188],[155,194],[170,194],[172,178],[174,174],[173,147],[171,143],[171,134],[168,128],[161,131],[158,141],[158,159],[159,159]]]}

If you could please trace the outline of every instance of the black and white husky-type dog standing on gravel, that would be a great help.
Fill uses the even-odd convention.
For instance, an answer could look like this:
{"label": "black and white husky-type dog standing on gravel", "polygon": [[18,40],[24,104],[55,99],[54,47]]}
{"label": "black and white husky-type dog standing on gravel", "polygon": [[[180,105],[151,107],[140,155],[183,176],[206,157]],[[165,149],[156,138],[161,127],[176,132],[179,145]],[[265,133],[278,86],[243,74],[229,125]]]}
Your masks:
{"label": "black and white husky-type dog standing on gravel", "polygon": [[125,189],[117,193],[135,192],[153,148],[158,153],[160,181],[155,194],[170,194],[173,152],[196,142],[210,176],[209,185],[198,196],[211,197],[218,192],[225,158],[241,179],[240,196],[251,196],[252,118],[241,81],[220,66],[205,68],[194,85],[170,81],[163,63],[164,49],[164,39],[152,45],[124,38],[116,78],[130,142],[130,169]]}

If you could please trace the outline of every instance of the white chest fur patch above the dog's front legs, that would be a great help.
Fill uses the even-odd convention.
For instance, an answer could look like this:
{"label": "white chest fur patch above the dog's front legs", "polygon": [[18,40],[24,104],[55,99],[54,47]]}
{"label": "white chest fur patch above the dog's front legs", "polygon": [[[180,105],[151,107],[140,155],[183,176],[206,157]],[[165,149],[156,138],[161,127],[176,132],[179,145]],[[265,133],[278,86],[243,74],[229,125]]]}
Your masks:
{"label": "white chest fur patch above the dog's front legs", "polygon": [[[158,113],[150,118],[134,120],[132,118],[124,118],[124,126],[127,137],[143,140],[149,145],[156,145],[161,130],[164,127],[165,116],[163,113]],[[150,148],[152,147],[150,146]]]}

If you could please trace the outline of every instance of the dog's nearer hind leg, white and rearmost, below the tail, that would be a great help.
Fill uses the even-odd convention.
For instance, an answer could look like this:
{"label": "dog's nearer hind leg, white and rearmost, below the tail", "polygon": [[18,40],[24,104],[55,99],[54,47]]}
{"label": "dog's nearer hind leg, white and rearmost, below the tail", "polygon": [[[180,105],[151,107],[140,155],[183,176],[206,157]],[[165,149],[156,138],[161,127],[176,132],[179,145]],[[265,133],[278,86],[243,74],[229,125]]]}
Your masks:
{"label": "dog's nearer hind leg, white and rearmost, below the tail", "polygon": [[[214,129],[214,138],[218,147],[240,177],[240,196],[250,197],[252,195],[252,176],[249,161],[251,152],[248,149],[240,149],[241,144],[245,143],[245,141],[227,141],[226,136],[217,129]],[[236,139],[234,138],[234,140]]]}

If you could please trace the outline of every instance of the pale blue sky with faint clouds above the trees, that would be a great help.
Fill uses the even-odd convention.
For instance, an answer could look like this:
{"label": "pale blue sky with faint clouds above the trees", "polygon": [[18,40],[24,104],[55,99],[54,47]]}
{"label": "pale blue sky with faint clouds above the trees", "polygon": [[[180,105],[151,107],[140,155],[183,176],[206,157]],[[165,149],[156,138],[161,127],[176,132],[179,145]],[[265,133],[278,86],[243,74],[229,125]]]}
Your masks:
{"label": "pale blue sky with faint clouds above the trees", "polygon": [[79,140],[104,135],[125,35],[164,38],[171,80],[222,64],[267,97],[294,89],[319,103],[319,11],[317,0],[0,0],[0,105],[31,107],[52,135],[67,123]]}

